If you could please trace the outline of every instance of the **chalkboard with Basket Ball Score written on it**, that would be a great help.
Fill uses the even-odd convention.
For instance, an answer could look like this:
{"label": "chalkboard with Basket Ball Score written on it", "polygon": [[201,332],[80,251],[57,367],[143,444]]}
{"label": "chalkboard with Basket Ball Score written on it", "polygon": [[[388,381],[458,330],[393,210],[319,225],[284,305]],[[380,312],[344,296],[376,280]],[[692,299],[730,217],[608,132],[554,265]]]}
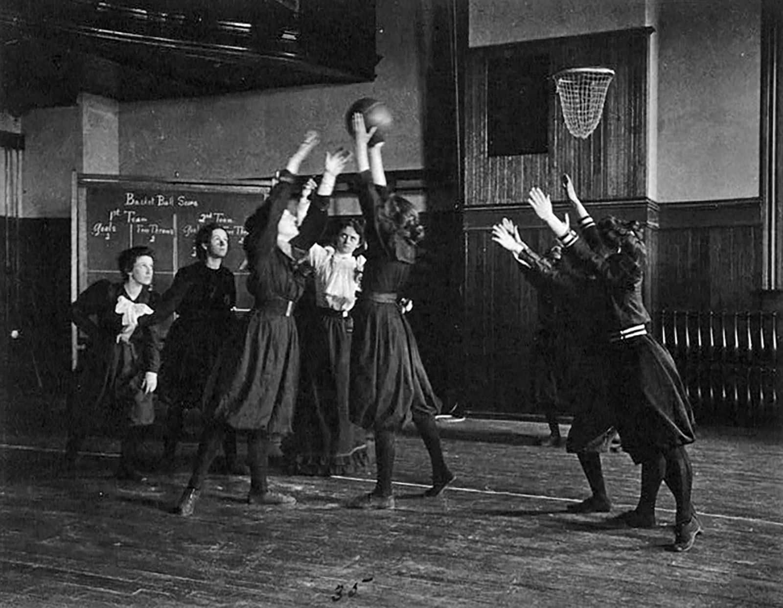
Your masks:
{"label": "chalkboard with Basket Ball Score written on it", "polygon": [[200,226],[215,222],[230,238],[223,264],[235,273],[236,307],[250,309],[241,246],[244,221],[270,186],[269,180],[185,182],[77,174],[72,205],[77,229],[74,299],[96,280],[117,280],[117,255],[136,245],[155,251],[153,288],[162,293],[177,270],[197,261],[193,241]]}

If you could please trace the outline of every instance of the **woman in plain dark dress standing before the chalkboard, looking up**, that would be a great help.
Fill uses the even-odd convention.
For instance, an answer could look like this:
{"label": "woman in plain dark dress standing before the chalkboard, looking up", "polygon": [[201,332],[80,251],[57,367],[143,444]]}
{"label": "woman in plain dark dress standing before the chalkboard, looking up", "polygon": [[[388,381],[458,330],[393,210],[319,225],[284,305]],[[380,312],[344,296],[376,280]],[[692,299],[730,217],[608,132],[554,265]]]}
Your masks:
{"label": "woman in plain dark dress standing before the chalkboard, looking up", "polygon": [[[234,273],[222,265],[229,252],[229,235],[217,223],[201,226],[194,243],[198,262],[177,271],[155,312],[139,326],[161,323],[177,313],[164,342],[161,399],[168,405],[162,467],[174,465],[184,413],[199,407],[212,367],[236,323]],[[229,474],[247,469],[236,460],[236,432],[226,429],[223,443]]]}

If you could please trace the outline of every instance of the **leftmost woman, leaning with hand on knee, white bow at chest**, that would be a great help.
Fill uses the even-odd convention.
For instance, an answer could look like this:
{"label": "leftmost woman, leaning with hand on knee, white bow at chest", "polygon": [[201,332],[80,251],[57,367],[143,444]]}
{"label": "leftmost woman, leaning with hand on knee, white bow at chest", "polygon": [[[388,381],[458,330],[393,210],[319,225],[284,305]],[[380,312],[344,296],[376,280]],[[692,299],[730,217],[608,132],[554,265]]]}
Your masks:
{"label": "leftmost woman, leaning with hand on knee, white bow at chest", "polygon": [[69,395],[66,469],[74,469],[79,449],[99,421],[123,433],[117,477],[141,481],[136,468],[143,432],[155,419],[153,392],[161,365],[161,337],[156,328],[123,333],[153,312],[150,291],[154,253],[148,247],[124,250],[117,259],[123,280],[99,280],[70,307],[71,320],[88,338],[80,357],[74,391]]}

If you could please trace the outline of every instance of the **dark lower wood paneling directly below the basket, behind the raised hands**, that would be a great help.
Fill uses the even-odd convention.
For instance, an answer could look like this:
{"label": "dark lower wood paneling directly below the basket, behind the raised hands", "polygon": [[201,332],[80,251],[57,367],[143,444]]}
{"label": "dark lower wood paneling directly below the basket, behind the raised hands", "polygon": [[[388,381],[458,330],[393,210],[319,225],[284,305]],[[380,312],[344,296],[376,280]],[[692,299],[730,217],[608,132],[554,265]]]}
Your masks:
{"label": "dark lower wood paneling directly below the basket, behind the raised hands", "polygon": [[[648,246],[647,306],[654,309],[657,280],[653,256],[658,250],[658,205],[647,200],[587,204],[596,218],[609,213],[644,226]],[[565,212],[558,208],[558,215]],[[494,205],[464,214],[464,395],[474,411],[535,413],[532,400],[532,346],[538,329],[536,291],[511,254],[492,241],[493,224],[507,217],[519,226],[523,241],[545,252],[554,237],[527,206]]]}

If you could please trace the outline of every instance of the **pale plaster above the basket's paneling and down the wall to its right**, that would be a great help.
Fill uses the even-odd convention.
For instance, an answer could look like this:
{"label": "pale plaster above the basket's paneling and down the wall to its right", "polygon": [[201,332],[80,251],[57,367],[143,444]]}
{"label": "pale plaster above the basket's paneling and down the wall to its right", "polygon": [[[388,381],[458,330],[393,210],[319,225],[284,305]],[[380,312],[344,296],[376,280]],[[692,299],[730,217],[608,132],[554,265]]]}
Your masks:
{"label": "pale plaster above the basket's paneling and down the wall to its right", "polygon": [[759,194],[760,0],[471,0],[470,45],[651,26],[648,196]]}

